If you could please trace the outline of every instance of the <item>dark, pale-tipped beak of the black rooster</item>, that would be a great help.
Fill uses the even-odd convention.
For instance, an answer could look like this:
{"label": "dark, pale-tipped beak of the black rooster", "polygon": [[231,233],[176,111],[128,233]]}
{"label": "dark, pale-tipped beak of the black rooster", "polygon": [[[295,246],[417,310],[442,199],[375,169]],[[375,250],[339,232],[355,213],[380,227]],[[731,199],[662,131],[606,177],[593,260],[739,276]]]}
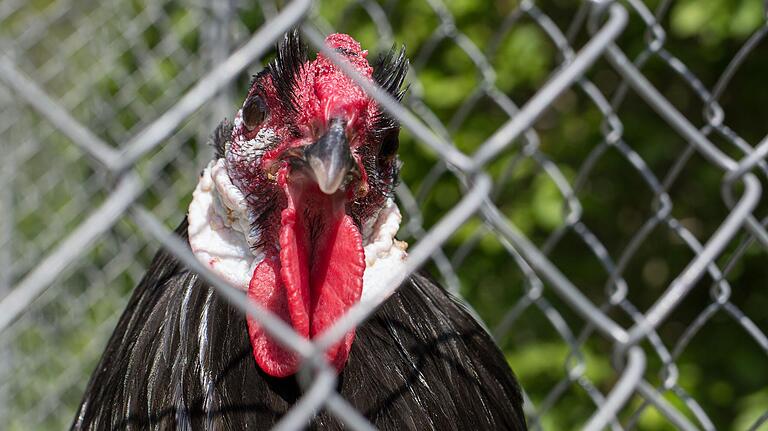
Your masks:
{"label": "dark, pale-tipped beak of the black rooster", "polygon": [[341,187],[355,161],[349,150],[344,121],[333,119],[328,131],[304,151],[304,160],[315,176],[320,190],[333,194]]}

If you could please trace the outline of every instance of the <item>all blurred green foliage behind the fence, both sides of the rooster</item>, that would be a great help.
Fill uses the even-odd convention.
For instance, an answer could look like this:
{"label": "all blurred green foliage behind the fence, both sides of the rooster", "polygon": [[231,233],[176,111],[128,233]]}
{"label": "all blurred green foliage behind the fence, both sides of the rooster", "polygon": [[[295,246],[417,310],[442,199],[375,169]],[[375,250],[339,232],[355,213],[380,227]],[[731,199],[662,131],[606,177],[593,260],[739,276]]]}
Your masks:
{"label": "all blurred green foliage behind the fence, both sides of the rooster", "polygon": [[[148,7],[148,0],[126,2],[127,8],[140,13]],[[44,0],[33,2],[29,13],[42,11],[49,3]],[[577,10],[577,2],[567,0],[545,0],[536,2],[561,28],[566,29]],[[658,6],[659,1],[649,1],[649,6]],[[339,31],[357,38],[373,54],[384,48],[377,32],[377,26],[360,7],[348,7],[345,0],[319,2],[313,20],[327,23]],[[428,58],[420,59],[418,53],[439,25],[436,14],[426,1],[383,1],[388,11],[394,41],[405,44],[412,64],[417,66],[410,76],[411,97],[420,97],[435,118],[443,124],[450,124],[454,114],[482,84],[478,69],[471,59],[451,41],[440,43]],[[455,20],[456,27],[472,43],[488,54],[496,33],[505,17],[517,6],[512,0],[447,0],[446,7]],[[163,9],[170,17],[165,27],[150,26],[138,36],[141,44],[153,49],[163,38],[164,32],[172,32],[180,44],[191,55],[204,55],[200,29],[190,19],[188,7],[183,2],[167,2]],[[22,17],[16,18],[21,22]],[[256,6],[242,8],[237,20],[250,31],[263,23],[261,10]],[[702,83],[712,88],[726,65],[745,40],[760,26],[765,25],[765,10],[760,0],[681,0],[673,2],[662,24],[667,30],[665,47],[682,60]],[[105,34],[110,37],[110,23],[105,23]],[[49,28],[57,31],[69,30]],[[634,57],[645,47],[645,27],[636,15],[620,37],[619,45]],[[576,38],[576,48],[588,40],[582,31]],[[32,53],[34,54],[34,53]],[[766,134],[765,102],[768,101],[768,44],[762,43],[747,59],[735,76],[732,84],[722,97],[725,122],[740,136],[754,145]],[[39,54],[42,55],[42,54]],[[500,39],[497,49],[489,56],[490,66],[495,71],[494,85],[499,91],[511,97],[518,105],[528,100],[551,76],[561,62],[558,50],[546,34],[530,19],[524,18]],[[71,59],[77,70],[77,58]],[[34,61],[34,60],[33,60]],[[103,97],[115,97],[120,92],[119,76],[137,73],[141,70],[147,77],[146,83],[136,90],[135,97],[147,104],[167,105],[163,91],[167,83],[178,79],[185,64],[174,59],[163,59],[150,65],[132,49],[121,53],[115,62],[112,74],[102,76],[93,86]],[[259,66],[254,65],[253,70]],[[201,71],[204,72],[204,71]],[[697,126],[704,124],[702,101],[690,90],[668,64],[653,58],[643,68],[644,74],[678,109]],[[73,73],[76,75],[76,73]],[[620,77],[612,72],[603,60],[591,69],[588,77],[609,97],[616,91]],[[72,77],[62,77],[72,79]],[[239,80],[240,90],[248,81],[247,76]],[[54,90],[55,91],[55,90]],[[63,91],[63,90],[62,90]],[[242,91],[236,93],[242,94]],[[239,96],[235,97],[239,103]],[[406,101],[408,102],[408,101]],[[232,107],[232,112],[236,109]],[[656,115],[637,95],[630,92],[621,105],[619,116],[624,126],[627,145],[637,151],[657,177],[663,178],[687,148],[687,143],[661,118]],[[202,115],[201,115],[202,117]],[[508,117],[492,101],[485,97],[475,106],[466,121],[455,128],[449,128],[451,140],[466,153],[474,151],[485,139],[503,124]],[[197,167],[180,167],[174,159],[174,151],[184,151],[190,159],[205,159],[209,151],[200,152],[200,137],[187,129],[199,129],[200,124],[209,128],[211,119],[196,117],[185,126],[175,138],[175,146],[153,153],[155,159],[164,162],[141,165],[142,172],[163,171],[164,182],[155,184],[144,197],[143,203],[151,208],[166,208],[163,212],[169,225],[176,223],[183,213],[189,194],[194,185]],[[127,131],[135,130],[148,119],[141,118],[130,109],[119,110],[115,118]],[[195,121],[198,123],[195,124]],[[540,149],[550,157],[573,183],[579,168],[590,151],[602,140],[601,122],[603,117],[595,105],[578,89],[568,90],[536,124],[541,139]],[[109,139],[120,142],[119,136]],[[735,158],[739,151],[726,140],[715,139],[715,143]],[[564,200],[552,179],[529,157],[524,157],[505,182],[507,163],[521,155],[518,143],[488,166],[488,172],[499,181],[497,203],[502,211],[538,246],[565,223]],[[71,151],[65,141],[54,143],[56,154],[67,155]],[[73,156],[74,157],[74,156]],[[428,192],[419,194],[425,174],[439,160],[426,150],[412,136],[403,131],[400,157],[403,160],[403,181],[415,191],[422,210],[426,227],[433,225],[461,198],[461,189],[449,173],[442,175]],[[35,164],[31,164],[35,166]],[[45,164],[37,164],[44,170]],[[34,176],[34,173],[27,173]],[[81,169],[68,171],[69,180],[76,184],[104,181],[98,171]],[[672,214],[687,227],[700,241],[704,242],[728,214],[727,207],[719,197],[722,172],[706,160],[694,154],[685,164],[682,175],[669,189],[673,201]],[[18,229],[30,237],[47,223],[44,215],[55,214],[65,206],[66,194],[56,194],[58,200],[46,201],[47,211],[37,216],[27,216],[20,221]],[[93,200],[80,202],[88,207],[103,198],[94,193]],[[582,220],[596,237],[605,245],[606,251],[616,259],[642,224],[654,214],[653,193],[644,183],[636,169],[615,149],[609,149],[600,157],[595,167],[579,190],[578,198],[583,205]],[[764,210],[761,206],[761,210]],[[762,214],[762,212],[760,212]],[[76,226],[79,219],[68,221]],[[94,277],[106,277],[103,273],[90,274],[78,270],[68,276],[66,294],[76,298],[88,297],[91,306],[84,314],[70,316],[76,320],[68,330],[50,331],[30,325],[21,330],[12,344],[18,355],[33,357],[39,354],[40,345],[53,344],[53,350],[63,352],[58,358],[48,358],[45,366],[36,368],[39,374],[9,383],[12,392],[18,394],[12,409],[19,412],[32,411],[45,400],[46,388],[61,386],[62,405],[51,409],[51,414],[39,425],[41,429],[66,427],[77,405],[85,381],[63,379],[63,375],[84,375],[98,359],[102,343],[109,334],[116,313],[122,308],[126,295],[141,276],[137,266],[146,265],[156,244],[141,238],[138,229],[130,219],[121,221],[111,236],[97,245],[87,255],[88,265],[106,268],[107,278],[113,289],[93,296],[85,286],[93,283]],[[739,239],[742,237],[740,236]],[[473,253],[458,266],[457,273],[462,294],[473,304],[491,328],[499,324],[507,310],[525,294],[525,278],[514,260],[506,252],[498,237],[483,228],[480,219],[472,219],[459,229],[444,250],[454,256],[467,241],[477,241]],[[718,260],[723,264],[733,252],[736,241]],[[109,268],[110,257],[130,244],[130,253],[135,253],[136,266]],[[549,253],[558,268],[579,286],[595,303],[607,301],[605,284],[607,275],[590,249],[574,232],[567,233]],[[674,277],[692,259],[693,253],[663,225],[658,226],[640,247],[630,261],[624,276],[629,285],[628,299],[639,309],[648,309],[662,294]],[[739,260],[728,276],[733,287],[731,302],[753,319],[754,323],[768,331],[768,291],[766,279],[766,254],[758,246],[752,246]],[[439,273],[432,266],[433,273]],[[103,280],[99,279],[99,280]],[[712,299],[709,288],[712,280],[705,277],[682,306],[660,328],[661,340],[673,346],[685,329],[696,319]],[[91,295],[91,296],[89,296]],[[575,315],[568,305],[545,286],[543,298],[561,315],[563,323],[573,333],[578,333],[584,322]],[[67,303],[55,303],[40,307],[39,316],[63,319],[68,313]],[[609,315],[625,326],[631,325],[627,315],[616,308]],[[566,364],[572,360],[569,346],[554,329],[550,320],[540,308],[532,305],[514,322],[511,329],[500,338],[500,344],[510,364],[518,374],[528,395],[536,406],[540,406],[547,394],[567,375]],[[645,347],[649,347],[646,345]],[[651,348],[646,378],[652,384],[659,384],[660,361]],[[579,352],[583,355],[585,371],[583,376],[597,389],[606,393],[616,382],[616,373],[611,367],[611,345],[594,336],[588,339]],[[72,363],[77,365],[73,370]],[[679,385],[708,412],[717,429],[743,430],[768,409],[768,361],[766,352],[761,350],[743,329],[723,312],[719,312],[697,334],[691,344],[677,360]],[[665,397],[692,418],[681,400],[680,394],[666,392]],[[49,401],[50,403],[50,401]],[[634,408],[641,404],[633,399],[622,413],[627,419]],[[594,411],[594,405],[586,392],[573,384],[542,418],[544,429],[572,429]],[[10,429],[28,429],[24,421],[9,421]],[[653,408],[645,409],[639,417],[639,428],[647,430],[673,429]]]}

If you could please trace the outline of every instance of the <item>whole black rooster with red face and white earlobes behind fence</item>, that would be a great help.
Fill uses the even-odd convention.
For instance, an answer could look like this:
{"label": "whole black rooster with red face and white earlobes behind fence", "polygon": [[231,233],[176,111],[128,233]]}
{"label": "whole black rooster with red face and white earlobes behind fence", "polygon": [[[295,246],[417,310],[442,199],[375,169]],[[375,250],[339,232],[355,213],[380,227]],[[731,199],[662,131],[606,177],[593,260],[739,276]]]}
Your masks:
{"label": "whole black rooster with red face and white earlobes behind fence", "polygon": [[[344,34],[326,44],[400,99],[404,50],[380,57]],[[399,125],[297,32],[214,132],[177,229],[195,256],[312,339],[352,305],[403,284],[326,352],[338,391],[385,430],[526,429],[515,378],[491,337],[426,274],[405,279],[395,239]],[[73,429],[269,429],[301,397],[299,357],[160,251],[93,373]],[[311,429],[342,429],[320,412]]]}

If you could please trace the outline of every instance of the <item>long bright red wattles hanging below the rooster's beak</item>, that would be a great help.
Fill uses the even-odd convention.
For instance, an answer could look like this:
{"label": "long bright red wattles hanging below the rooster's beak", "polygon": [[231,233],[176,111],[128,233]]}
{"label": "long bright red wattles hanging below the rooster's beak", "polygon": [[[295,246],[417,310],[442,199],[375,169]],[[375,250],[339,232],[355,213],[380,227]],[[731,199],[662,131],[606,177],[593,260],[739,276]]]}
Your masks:
{"label": "long bright red wattles hanging below the rooster's beak", "polygon": [[[344,211],[343,196],[325,195],[315,184],[289,186],[280,177],[288,197],[281,214],[280,251],[267,253],[256,267],[248,296],[312,338],[360,299],[362,236]],[[267,374],[284,377],[298,371],[296,355],[253,319],[248,319],[248,332],[256,362]],[[354,330],[326,352],[336,369],[346,363],[353,339]]]}

